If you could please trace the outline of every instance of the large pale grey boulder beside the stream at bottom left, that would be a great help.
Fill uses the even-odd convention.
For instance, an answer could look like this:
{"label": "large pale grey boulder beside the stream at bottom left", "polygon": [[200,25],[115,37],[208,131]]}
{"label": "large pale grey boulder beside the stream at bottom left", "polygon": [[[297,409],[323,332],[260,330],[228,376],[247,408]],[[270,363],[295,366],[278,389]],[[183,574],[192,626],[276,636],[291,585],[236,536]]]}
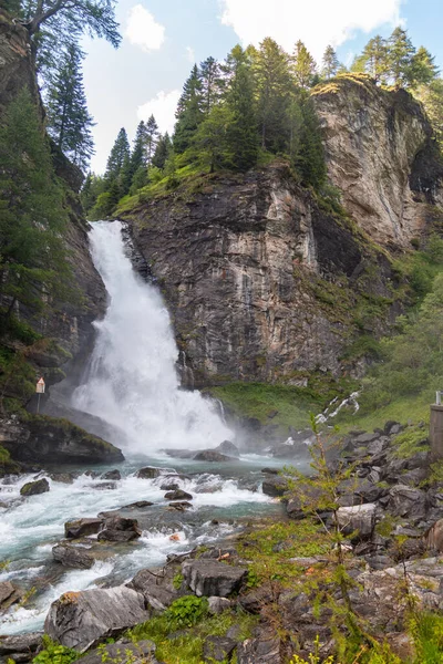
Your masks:
{"label": "large pale grey boulder beside the stream at bottom left", "polygon": [[135,590],[97,588],[62,594],[51,604],[44,631],[62,645],[84,652],[148,618],[144,598]]}

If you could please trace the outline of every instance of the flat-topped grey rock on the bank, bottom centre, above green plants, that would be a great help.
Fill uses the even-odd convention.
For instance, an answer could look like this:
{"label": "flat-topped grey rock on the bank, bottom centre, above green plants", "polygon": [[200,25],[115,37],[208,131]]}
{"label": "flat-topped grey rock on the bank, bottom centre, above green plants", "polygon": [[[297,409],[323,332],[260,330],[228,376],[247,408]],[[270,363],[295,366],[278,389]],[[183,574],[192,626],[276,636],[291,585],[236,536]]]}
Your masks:
{"label": "flat-topped grey rock on the bank, bottom centre, above green plants", "polygon": [[214,560],[186,560],[182,566],[182,573],[197,596],[226,598],[241,588],[248,571]]}

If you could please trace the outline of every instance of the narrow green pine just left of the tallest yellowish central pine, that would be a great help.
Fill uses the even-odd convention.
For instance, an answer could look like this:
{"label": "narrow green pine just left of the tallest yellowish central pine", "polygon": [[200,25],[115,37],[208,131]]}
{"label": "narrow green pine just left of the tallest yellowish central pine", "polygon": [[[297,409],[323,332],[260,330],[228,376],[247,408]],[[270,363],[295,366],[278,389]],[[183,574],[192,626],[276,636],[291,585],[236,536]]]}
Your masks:
{"label": "narrow green pine just left of the tallest yellowish central pine", "polygon": [[245,172],[257,164],[258,136],[254,80],[247,55],[235,46],[228,59],[229,84],[225,100],[230,112],[227,147],[231,167]]}

